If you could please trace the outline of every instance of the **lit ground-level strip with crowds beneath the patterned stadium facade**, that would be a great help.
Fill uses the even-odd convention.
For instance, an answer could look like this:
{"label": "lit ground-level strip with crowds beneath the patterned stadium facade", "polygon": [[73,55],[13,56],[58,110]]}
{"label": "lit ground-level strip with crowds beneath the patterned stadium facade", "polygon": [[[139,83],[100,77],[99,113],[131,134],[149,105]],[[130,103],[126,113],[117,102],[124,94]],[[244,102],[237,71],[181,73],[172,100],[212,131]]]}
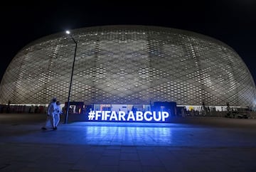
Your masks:
{"label": "lit ground-level strip with crowds beneath the patterned stadium facade", "polygon": [[[48,104],[0,104],[0,113],[12,114],[46,114]],[[60,104],[65,115],[65,104]],[[111,108],[110,108],[111,107]],[[82,108],[70,105],[70,117],[84,116],[90,112],[91,109],[95,110],[111,110],[111,111],[126,111],[132,110],[132,107],[138,111],[154,110],[151,109],[149,104],[93,104],[83,105]],[[240,115],[243,116],[240,116]],[[245,116],[244,116],[245,115]],[[80,116],[80,117],[82,117]],[[256,109],[249,109],[248,107],[235,107],[230,106],[203,106],[198,105],[177,105],[176,115],[171,113],[171,116],[177,117],[230,117],[230,118],[250,118],[256,119]],[[83,117],[82,117],[83,118]]]}

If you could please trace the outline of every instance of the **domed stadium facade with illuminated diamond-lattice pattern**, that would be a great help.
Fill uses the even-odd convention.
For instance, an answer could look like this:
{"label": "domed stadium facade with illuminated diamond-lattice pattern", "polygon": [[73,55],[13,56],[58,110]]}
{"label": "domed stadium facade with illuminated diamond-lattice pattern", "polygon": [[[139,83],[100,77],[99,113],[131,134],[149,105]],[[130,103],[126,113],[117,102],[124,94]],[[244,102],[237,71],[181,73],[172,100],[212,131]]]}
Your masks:
{"label": "domed stadium facade with illuminated diamond-lattice pattern", "polygon": [[[70,101],[84,104],[252,106],[255,82],[238,53],[198,33],[156,26],[71,31],[78,43]],[[0,103],[66,102],[75,43],[66,33],[33,41],[6,69]]]}

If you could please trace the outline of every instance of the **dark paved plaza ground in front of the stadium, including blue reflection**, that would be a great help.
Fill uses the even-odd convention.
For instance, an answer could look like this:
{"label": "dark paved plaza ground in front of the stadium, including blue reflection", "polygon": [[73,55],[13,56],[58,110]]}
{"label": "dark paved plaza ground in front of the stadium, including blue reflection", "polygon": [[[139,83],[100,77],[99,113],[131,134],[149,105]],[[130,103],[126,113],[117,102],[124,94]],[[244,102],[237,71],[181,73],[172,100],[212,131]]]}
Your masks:
{"label": "dark paved plaza ground in front of the stadium, including blue reflection", "polygon": [[256,171],[256,119],[173,117],[171,124],[75,122],[0,114],[0,171]]}

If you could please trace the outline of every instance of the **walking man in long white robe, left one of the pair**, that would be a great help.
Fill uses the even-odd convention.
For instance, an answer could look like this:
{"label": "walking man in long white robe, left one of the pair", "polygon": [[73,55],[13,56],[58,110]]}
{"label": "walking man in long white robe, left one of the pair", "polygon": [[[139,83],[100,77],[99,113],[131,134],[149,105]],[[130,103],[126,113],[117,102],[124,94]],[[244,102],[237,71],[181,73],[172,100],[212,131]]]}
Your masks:
{"label": "walking man in long white robe, left one of the pair", "polygon": [[55,127],[55,118],[54,118],[54,112],[57,110],[57,98],[53,97],[53,99],[50,101],[48,108],[47,108],[47,118],[46,118],[46,124],[41,129],[46,130],[49,126],[53,129],[57,129]]}

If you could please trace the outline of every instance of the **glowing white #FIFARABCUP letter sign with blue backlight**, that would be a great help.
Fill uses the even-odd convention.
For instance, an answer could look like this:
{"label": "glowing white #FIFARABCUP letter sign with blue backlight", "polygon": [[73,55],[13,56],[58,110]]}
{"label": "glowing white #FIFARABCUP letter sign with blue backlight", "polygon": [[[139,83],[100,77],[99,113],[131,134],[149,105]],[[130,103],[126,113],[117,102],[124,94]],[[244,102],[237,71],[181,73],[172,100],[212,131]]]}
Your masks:
{"label": "glowing white #FIFARABCUP letter sign with blue backlight", "polygon": [[132,112],[126,114],[124,111],[90,111],[88,121],[107,122],[169,122],[168,112]]}

